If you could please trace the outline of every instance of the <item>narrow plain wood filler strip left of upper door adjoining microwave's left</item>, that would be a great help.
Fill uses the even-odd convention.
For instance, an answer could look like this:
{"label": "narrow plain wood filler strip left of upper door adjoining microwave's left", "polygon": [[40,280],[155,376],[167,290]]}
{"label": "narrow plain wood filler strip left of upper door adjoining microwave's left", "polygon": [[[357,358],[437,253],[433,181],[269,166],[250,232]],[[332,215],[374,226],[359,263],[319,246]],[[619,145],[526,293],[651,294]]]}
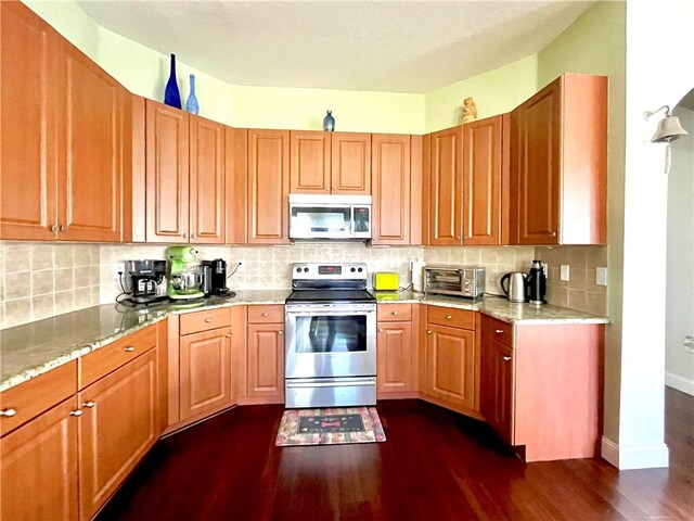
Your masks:
{"label": "narrow plain wood filler strip left of upper door adjoining microwave's left", "polygon": [[227,244],[245,244],[247,229],[247,203],[248,191],[247,149],[248,130],[245,128],[227,127],[226,149],[226,218],[227,218]]}

